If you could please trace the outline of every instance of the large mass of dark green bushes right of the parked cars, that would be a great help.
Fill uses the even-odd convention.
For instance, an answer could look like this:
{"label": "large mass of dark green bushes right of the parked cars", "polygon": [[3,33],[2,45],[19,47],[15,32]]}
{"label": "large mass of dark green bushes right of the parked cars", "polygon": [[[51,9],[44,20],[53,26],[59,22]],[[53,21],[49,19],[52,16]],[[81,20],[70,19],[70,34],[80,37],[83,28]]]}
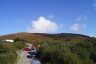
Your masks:
{"label": "large mass of dark green bushes right of the parked cars", "polygon": [[46,42],[38,49],[37,57],[42,64],[95,64],[96,39]]}

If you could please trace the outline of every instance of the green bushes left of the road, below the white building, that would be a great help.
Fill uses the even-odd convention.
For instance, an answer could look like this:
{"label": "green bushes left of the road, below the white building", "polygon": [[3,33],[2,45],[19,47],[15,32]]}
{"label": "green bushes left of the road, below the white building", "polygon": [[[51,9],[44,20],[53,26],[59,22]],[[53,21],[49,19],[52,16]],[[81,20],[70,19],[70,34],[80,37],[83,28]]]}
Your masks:
{"label": "green bushes left of the road, below the white building", "polygon": [[16,51],[25,46],[25,43],[22,41],[12,43],[0,41],[0,64],[14,64],[17,59]]}

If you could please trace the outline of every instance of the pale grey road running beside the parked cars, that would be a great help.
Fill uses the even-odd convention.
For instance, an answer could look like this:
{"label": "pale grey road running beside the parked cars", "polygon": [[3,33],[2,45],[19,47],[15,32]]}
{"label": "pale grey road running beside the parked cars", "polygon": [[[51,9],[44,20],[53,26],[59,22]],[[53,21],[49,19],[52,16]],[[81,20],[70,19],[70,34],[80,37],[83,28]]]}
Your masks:
{"label": "pale grey road running beside the parked cars", "polygon": [[[27,44],[28,44],[28,48],[31,48],[32,44],[29,43]],[[31,64],[32,59],[27,58],[27,56],[30,55],[28,51],[22,51],[21,53],[19,53],[19,55],[20,55],[20,60],[18,61],[17,64]]]}

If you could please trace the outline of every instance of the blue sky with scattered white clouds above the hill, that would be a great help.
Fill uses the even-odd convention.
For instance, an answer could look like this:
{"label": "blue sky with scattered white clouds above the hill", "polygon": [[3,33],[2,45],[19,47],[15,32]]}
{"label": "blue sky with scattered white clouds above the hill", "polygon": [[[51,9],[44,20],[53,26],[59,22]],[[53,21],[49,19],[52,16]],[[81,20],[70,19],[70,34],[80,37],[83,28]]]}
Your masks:
{"label": "blue sky with scattered white clouds above the hill", "polygon": [[0,0],[0,35],[18,32],[96,36],[96,0]]}

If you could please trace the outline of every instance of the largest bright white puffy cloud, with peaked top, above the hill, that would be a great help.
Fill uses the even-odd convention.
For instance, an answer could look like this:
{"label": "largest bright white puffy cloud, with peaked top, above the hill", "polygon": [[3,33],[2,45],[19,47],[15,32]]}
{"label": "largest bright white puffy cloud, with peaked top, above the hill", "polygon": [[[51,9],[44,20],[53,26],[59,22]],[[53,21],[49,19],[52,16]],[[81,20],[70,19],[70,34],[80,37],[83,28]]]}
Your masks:
{"label": "largest bright white puffy cloud, with peaked top, above the hill", "polygon": [[27,30],[31,33],[48,33],[55,32],[59,28],[59,25],[57,25],[55,22],[47,20],[44,17],[40,17],[37,21],[32,21],[32,26]]}

